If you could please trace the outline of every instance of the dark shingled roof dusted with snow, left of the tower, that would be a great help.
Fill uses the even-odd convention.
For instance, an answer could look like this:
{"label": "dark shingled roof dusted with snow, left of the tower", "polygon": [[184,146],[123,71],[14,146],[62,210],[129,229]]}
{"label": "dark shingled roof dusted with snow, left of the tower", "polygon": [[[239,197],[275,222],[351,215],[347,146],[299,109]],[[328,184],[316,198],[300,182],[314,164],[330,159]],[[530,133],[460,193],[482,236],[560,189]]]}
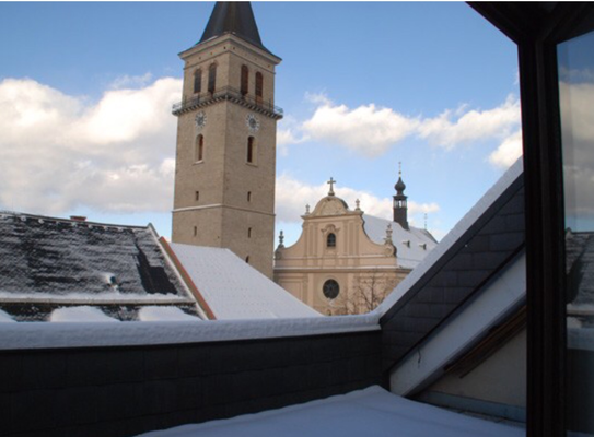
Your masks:
{"label": "dark shingled roof dusted with snow, left of the tower", "polygon": [[118,226],[0,213],[0,308],[47,320],[61,306],[93,305],[136,320],[144,305],[196,303],[167,264],[152,226]]}

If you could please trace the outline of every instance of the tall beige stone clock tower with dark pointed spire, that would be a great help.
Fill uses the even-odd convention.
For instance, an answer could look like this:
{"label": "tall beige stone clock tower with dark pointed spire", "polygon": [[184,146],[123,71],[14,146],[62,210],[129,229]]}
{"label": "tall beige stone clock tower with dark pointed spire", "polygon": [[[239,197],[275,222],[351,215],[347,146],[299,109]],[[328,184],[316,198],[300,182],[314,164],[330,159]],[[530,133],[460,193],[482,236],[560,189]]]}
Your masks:
{"label": "tall beige stone clock tower with dark pointed spire", "polygon": [[264,47],[248,2],[218,2],[179,57],[172,240],[229,248],[272,277],[281,59]]}

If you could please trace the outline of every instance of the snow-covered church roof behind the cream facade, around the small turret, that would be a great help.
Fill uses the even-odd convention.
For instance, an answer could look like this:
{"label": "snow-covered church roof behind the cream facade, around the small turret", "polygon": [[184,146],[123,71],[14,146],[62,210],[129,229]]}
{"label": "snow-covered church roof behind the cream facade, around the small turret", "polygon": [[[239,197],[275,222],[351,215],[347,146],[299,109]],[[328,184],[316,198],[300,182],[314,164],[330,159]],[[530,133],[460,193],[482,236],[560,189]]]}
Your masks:
{"label": "snow-covered church roof behind the cream facade, around the small turret", "polygon": [[438,241],[426,229],[409,226],[405,229],[399,223],[363,214],[364,229],[373,243],[383,244],[386,228],[392,227],[392,243],[396,247],[396,259],[400,267],[416,268]]}

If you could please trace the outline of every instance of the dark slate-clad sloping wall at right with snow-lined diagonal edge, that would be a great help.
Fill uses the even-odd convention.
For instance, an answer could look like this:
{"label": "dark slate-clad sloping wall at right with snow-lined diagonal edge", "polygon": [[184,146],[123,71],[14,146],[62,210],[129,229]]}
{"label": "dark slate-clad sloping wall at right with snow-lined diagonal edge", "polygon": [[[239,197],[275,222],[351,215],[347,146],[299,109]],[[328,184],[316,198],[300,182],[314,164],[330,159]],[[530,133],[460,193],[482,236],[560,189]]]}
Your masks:
{"label": "dark slate-clad sloping wall at right with snow-lined diagonal edge", "polygon": [[384,369],[404,358],[523,249],[521,163],[512,166],[450,234],[419,270],[399,284],[409,288],[401,294],[397,287],[381,308],[392,305],[381,319]]}

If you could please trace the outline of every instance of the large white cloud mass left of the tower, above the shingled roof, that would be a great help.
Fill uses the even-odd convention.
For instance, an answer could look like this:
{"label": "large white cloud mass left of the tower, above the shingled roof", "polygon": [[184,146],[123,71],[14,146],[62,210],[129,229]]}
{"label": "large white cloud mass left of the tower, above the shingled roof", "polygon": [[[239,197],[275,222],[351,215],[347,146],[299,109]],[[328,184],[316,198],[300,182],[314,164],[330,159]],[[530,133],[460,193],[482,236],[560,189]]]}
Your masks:
{"label": "large white cloud mass left of the tower, above the shingled roof", "polygon": [[180,90],[165,78],[89,103],[28,79],[0,82],[0,208],[171,210]]}

